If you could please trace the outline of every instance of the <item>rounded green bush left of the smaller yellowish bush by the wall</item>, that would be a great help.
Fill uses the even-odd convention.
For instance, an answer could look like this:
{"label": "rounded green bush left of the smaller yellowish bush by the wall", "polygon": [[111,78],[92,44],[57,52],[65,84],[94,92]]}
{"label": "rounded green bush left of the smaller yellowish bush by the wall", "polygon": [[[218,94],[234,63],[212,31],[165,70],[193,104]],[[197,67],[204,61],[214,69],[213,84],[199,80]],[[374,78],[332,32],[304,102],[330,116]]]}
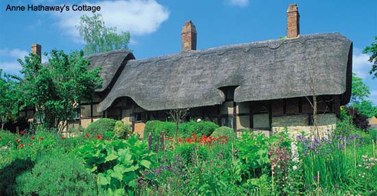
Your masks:
{"label": "rounded green bush left of the smaller yellowish bush by the wall", "polygon": [[85,133],[91,136],[105,135],[106,132],[112,132],[114,130],[115,122],[117,122],[117,120],[101,118],[92,124],[89,124],[85,129]]}

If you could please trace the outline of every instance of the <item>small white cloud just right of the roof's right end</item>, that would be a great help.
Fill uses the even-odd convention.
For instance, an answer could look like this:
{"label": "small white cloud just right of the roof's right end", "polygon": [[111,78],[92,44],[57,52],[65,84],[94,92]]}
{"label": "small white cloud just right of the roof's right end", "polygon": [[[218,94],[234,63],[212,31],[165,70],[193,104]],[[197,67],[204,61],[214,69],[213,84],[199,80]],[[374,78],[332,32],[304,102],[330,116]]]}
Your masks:
{"label": "small white cloud just right of the roof's right end", "polygon": [[369,75],[369,70],[372,68],[372,63],[368,61],[369,55],[360,53],[358,50],[354,50],[352,56],[352,72],[356,73],[356,76],[365,79]]}

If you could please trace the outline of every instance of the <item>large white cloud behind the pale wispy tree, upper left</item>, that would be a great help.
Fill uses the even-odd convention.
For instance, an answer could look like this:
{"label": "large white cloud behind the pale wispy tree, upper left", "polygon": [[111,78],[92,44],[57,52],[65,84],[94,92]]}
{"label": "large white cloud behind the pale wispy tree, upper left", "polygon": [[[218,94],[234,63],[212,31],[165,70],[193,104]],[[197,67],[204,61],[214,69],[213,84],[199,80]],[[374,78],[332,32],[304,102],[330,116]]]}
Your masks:
{"label": "large white cloud behind the pale wispy tree, upper left", "polygon": [[[142,36],[153,33],[161,23],[169,18],[169,11],[155,0],[121,0],[98,1],[97,3],[77,3],[77,5],[99,5],[104,22],[108,27],[117,27],[117,31],[130,31],[131,36]],[[70,7],[72,9],[72,7]],[[58,19],[58,26],[66,33],[78,40],[80,16],[91,15],[92,12],[51,12]]]}

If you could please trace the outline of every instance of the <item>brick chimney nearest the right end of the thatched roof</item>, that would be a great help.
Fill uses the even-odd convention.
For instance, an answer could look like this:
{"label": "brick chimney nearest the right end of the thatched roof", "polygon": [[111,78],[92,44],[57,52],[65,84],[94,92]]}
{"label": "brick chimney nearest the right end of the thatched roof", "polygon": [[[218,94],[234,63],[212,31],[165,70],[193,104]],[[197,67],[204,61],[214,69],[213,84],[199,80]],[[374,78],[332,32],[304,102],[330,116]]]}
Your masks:
{"label": "brick chimney nearest the right end of the thatched roof", "polygon": [[300,35],[300,14],[296,4],[291,4],[287,10],[287,38],[297,38]]}

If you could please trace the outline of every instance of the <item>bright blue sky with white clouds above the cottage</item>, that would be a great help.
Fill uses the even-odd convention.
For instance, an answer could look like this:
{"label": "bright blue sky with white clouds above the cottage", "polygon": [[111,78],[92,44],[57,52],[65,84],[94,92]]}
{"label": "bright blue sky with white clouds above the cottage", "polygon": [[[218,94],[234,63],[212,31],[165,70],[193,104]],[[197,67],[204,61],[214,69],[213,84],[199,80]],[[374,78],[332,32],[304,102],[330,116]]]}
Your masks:
{"label": "bright blue sky with white clouds above the cottage", "polygon": [[[5,11],[7,5],[99,5],[108,27],[129,31],[129,48],[136,59],[179,53],[180,32],[186,20],[197,29],[197,49],[260,40],[273,40],[286,34],[287,8],[296,3],[300,12],[300,33],[339,32],[353,42],[353,72],[370,89],[369,100],[377,104],[377,79],[368,74],[371,64],[363,48],[377,36],[375,0],[1,0],[0,68],[17,74],[16,61],[41,44],[42,53],[51,49],[66,53],[80,50],[84,42],[75,26],[80,16],[92,12]],[[43,57],[42,61],[47,61]]]}

